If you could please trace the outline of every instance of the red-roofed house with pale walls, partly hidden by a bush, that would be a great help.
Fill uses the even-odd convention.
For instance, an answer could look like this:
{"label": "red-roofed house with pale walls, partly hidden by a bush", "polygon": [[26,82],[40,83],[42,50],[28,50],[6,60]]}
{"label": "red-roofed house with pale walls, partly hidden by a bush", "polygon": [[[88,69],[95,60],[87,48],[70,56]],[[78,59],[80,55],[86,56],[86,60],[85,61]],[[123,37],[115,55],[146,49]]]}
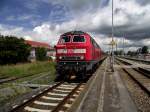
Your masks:
{"label": "red-roofed house with pale walls, partly hidden by a bush", "polygon": [[47,43],[36,42],[36,41],[31,41],[31,40],[25,40],[25,43],[29,44],[32,47],[32,49],[30,51],[30,56],[29,56],[30,61],[36,60],[35,49],[38,47],[46,48],[48,57],[55,57],[56,53],[55,53],[54,47],[50,46]]}

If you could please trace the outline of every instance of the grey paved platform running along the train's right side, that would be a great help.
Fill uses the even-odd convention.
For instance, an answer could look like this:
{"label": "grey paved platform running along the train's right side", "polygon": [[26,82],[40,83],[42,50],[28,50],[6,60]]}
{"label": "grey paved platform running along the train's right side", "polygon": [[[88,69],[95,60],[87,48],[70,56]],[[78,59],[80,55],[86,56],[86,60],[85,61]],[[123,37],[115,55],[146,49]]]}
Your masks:
{"label": "grey paved platform running along the train's right side", "polygon": [[76,112],[137,112],[119,74],[116,70],[109,72],[106,59]]}

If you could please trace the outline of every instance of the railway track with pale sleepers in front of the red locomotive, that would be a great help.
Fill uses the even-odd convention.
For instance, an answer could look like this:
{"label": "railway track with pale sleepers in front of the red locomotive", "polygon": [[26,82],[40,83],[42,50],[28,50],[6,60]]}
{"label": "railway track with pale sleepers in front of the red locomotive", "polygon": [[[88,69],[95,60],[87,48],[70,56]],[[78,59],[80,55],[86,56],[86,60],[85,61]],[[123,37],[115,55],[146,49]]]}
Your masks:
{"label": "railway track with pale sleepers in front of the red locomotive", "polygon": [[63,112],[68,110],[83,90],[85,83],[60,82],[33,96],[10,112]]}

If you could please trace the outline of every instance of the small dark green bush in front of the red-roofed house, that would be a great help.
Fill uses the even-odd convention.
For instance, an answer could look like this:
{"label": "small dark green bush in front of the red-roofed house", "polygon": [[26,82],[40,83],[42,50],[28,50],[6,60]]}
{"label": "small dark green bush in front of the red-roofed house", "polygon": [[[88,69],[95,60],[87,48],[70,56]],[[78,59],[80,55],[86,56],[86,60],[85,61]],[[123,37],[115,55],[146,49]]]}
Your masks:
{"label": "small dark green bush in front of the red-roofed house", "polygon": [[47,59],[47,56],[46,56],[46,53],[47,53],[47,50],[45,48],[36,48],[36,59],[39,60],[39,61],[44,61]]}

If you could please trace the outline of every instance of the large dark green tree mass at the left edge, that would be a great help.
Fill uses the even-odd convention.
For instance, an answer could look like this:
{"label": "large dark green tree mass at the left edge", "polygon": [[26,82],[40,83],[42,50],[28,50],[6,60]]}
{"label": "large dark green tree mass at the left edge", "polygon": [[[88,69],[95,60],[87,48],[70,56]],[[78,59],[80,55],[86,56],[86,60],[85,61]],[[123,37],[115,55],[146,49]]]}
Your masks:
{"label": "large dark green tree mass at the left edge", "polygon": [[26,62],[29,54],[30,46],[25,44],[24,39],[0,35],[0,64]]}

